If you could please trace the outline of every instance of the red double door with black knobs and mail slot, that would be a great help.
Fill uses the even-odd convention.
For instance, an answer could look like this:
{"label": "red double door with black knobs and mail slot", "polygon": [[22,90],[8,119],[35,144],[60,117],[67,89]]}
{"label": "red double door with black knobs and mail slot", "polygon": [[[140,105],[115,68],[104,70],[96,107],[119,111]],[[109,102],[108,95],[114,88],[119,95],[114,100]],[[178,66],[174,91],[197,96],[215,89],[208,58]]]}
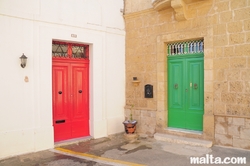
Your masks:
{"label": "red double door with black knobs and mail slot", "polygon": [[52,65],[55,142],[88,136],[89,60],[53,57]]}

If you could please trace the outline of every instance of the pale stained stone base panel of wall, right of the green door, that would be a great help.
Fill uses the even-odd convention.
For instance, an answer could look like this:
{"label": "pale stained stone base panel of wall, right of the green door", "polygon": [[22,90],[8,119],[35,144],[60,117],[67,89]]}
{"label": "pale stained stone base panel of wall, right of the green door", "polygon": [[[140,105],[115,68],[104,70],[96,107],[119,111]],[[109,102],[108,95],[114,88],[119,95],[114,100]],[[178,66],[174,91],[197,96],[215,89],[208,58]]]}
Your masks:
{"label": "pale stained stone base panel of wall, right of the green door", "polygon": [[250,149],[250,118],[215,116],[215,143]]}

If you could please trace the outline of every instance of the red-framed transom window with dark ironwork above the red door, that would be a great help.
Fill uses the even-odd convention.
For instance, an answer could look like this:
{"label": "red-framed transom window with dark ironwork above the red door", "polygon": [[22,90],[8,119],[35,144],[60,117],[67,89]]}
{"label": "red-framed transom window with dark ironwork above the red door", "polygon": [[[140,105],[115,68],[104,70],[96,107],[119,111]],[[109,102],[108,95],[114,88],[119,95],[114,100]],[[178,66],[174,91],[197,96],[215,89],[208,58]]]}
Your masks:
{"label": "red-framed transom window with dark ironwork above the red door", "polygon": [[85,44],[52,42],[53,58],[89,59],[89,46]]}

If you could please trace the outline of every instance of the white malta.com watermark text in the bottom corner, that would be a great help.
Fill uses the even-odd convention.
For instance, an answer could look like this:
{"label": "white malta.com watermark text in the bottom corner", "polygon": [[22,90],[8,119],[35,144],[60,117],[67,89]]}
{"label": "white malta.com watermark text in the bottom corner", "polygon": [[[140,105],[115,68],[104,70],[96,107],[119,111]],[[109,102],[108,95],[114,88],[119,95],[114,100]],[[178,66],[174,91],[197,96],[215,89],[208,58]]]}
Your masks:
{"label": "white malta.com watermark text in the bottom corner", "polygon": [[246,164],[246,157],[214,157],[206,154],[205,157],[190,157],[190,164]]}

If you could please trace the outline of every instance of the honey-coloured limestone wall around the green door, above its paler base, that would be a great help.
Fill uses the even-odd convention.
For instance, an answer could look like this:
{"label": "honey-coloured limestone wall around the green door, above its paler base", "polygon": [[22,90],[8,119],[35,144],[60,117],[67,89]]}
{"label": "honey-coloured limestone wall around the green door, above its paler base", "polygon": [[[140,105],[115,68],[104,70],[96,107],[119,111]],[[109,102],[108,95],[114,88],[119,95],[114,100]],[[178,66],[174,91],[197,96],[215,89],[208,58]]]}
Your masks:
{"label": "honey-coloured limestone wall around the green door, above its paler base", "polygon": [[[155,131],[166,133],[166,45],[174,41],[203,38],[203,134],[186,136],[218,140],[219,133],[214,131],[217,125],[214,116],[250,118],[250,1],[194,2],[186,4],[183,10],[186,20],[183,21],[176,20],[176,10],[171,6],[160,11],[150,5],[136,12],[127,10],[130,13],[124,16],[126,104],[134,104],[138,111],[155,111]],[[133,86],[133,77],[138,77],[139,86]],[[146,84],[154,86],[154,98],[144,98]],[[215,143],[222,144],[219,141]]]}

